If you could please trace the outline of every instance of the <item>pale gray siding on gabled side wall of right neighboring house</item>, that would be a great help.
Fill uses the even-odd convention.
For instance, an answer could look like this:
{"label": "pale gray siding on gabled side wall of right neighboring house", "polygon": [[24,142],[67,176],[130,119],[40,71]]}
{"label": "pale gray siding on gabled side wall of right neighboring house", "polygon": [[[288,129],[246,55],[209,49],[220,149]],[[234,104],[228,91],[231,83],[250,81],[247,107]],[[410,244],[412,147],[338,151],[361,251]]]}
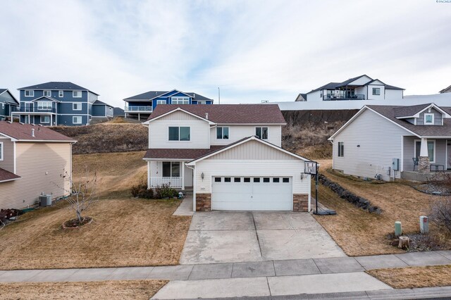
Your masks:
{"label": "pale gray siding on gabled side wall of right neighboring house", "polygon": [[[400,158],[401,163],[402,135],[410,133],[366,109],[333,138],[333,168],[359,177],[373,178],[378,173],[390,180],[392,159]],[[344,142],[343,157],[338,157],[338,142]],[[396,177],[400,178],[400,171]]]}

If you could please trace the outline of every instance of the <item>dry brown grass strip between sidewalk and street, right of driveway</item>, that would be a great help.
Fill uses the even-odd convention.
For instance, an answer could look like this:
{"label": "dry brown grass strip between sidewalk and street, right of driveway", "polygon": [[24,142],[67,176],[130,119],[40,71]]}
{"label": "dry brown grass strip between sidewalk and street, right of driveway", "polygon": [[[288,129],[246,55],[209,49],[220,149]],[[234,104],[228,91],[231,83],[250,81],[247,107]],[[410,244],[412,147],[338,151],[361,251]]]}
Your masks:
{"label": "dry brown grass strip between sidewalk and street, right of driveway", "polygon": [[378,269],[369,270],[366,273],[395,289],[451,285],[451,265]]}

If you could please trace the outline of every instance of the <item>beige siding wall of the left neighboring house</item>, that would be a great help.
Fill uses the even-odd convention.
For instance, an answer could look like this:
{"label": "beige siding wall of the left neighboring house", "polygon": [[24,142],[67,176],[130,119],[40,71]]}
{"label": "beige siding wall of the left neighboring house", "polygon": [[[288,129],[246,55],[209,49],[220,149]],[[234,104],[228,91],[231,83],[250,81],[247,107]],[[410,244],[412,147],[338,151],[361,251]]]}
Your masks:
{"label": "beige siding wall of the left neighboring house", "polygon": [[[68,194],[68,182],[60,176],[72,172],[70,143],[16,142],[16,174],[21,178],[0,183],[0,208],[25,208],[39,195],[52,199]],[[63,187],[63,188],[62,188]]]}

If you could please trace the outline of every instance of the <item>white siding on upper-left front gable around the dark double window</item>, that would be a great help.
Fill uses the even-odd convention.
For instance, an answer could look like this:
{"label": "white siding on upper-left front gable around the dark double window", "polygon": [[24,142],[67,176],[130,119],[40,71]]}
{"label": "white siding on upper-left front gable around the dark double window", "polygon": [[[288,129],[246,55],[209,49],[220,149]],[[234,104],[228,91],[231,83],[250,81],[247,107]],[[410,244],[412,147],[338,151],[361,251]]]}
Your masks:
{"label": "white siding on upper-left front gable around the dark double window", "polygon": [[[190,127],[190,141],[169,141],[169,127]],[[183,111],[175,111],[149,123],[149,148],[208,149],[210,125]]]}

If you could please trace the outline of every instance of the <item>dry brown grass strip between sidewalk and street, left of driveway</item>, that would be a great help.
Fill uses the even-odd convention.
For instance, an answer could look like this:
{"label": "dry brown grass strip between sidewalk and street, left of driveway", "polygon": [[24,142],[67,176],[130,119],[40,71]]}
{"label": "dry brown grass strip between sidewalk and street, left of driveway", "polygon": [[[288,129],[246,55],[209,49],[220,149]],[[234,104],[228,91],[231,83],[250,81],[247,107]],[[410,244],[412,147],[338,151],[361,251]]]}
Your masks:
{"label": "dry brown grass strip between sidewalk and street, left of driveway", "polygon": [[0,299],[149,299],[167,281],[0,283]]}

